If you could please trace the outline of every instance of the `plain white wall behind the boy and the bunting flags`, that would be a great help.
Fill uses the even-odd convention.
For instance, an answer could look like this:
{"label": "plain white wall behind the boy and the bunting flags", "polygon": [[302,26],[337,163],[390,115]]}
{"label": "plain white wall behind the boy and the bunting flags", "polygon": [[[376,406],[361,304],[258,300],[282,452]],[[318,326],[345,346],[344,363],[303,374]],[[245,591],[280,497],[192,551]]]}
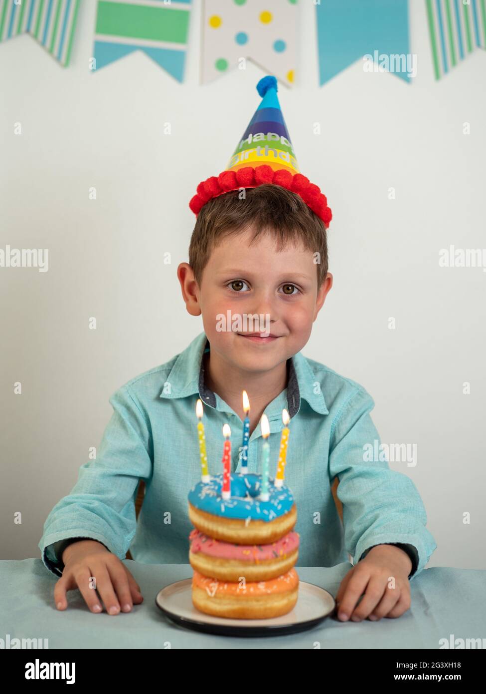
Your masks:
{"label": "plain white wall behind the boy and the bunting flags", "polygon": [[[417,443],[415,467],[390,466],[424,500],[438,545],[429,566],[486,568],[486,273],[438,265],[450,244],[486,246],[486,55],[436,83],[425,3],[413,0],[413,85],[358,61],[318,87],[313,6],[300,4],[299,82],[279,96],[300,167],[334,215],[334,286],[303,353],[363,384],[384,443]],[[44,520],[98,446],[114,390],[202,330],[175,275],[188,202],[224,169],[264,74],[249,63],[198,84],[197,1],[183,84],[143,53],[92,74],[95,12],[83,3],[68,69],[27,35],[0,45],[0,247],[49,248],[46,273],[0,268],[2,559],[39,556]]]}

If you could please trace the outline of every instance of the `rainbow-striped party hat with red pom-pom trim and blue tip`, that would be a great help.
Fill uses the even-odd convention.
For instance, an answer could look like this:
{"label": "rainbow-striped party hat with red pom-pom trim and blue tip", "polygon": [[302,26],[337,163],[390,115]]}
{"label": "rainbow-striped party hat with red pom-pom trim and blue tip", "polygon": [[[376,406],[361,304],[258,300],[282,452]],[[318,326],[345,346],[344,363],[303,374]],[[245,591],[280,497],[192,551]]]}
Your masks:
{"label": "rainbow-striped party hat with red pom-pom trim and blue tip", "polygon": [[227,169],[201,181],[189,208],[199,214],[212,198],[240,188],[256,188],[265,183],[280,185],[302,197],[306,205],[328,228],[332,219],[326,196],[300,173],[293,145],[277,96],[277,79],[268,75],[257,84],[261,103],[238,142]]}

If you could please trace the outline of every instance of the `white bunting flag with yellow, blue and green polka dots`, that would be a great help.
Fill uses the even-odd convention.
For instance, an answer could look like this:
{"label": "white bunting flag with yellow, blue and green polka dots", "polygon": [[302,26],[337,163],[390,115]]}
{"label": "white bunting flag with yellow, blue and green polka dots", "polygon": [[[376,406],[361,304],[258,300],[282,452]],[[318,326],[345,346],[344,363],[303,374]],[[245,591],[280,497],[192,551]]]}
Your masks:
{"label": "white bunting flag with yellow, blue and green polka dots", "polygon": [[202,26],[203,84],[249,59],[293,85],[297,0],[204,0]]}

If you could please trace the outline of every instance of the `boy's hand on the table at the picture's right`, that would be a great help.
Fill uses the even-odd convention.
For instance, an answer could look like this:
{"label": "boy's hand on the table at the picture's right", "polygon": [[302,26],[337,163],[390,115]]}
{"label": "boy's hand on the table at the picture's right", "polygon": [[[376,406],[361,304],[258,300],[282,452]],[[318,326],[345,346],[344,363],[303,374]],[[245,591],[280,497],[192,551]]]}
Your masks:
{"label": "boy's hand on the table at the picture's right", "polygon": [[[412,562],[393,545],[376,545],[348,571],[339,586],[338,618],[361,622],[369,617],[399,617],[410,607],[408,574]],[[394,579],[394,581],[392,580]],[[356,603],[363,595],[361,602]]]}

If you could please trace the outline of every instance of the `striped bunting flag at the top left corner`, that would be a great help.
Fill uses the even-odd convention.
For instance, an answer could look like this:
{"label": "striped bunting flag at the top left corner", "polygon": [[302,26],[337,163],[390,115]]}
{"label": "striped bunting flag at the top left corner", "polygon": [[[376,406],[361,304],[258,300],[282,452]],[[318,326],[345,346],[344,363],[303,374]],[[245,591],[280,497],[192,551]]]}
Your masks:
{"label": "striped bunting flag at the top left corner", "polygon": [[69,65],[80,0],[0,0],[0,41],[28,33]]}

